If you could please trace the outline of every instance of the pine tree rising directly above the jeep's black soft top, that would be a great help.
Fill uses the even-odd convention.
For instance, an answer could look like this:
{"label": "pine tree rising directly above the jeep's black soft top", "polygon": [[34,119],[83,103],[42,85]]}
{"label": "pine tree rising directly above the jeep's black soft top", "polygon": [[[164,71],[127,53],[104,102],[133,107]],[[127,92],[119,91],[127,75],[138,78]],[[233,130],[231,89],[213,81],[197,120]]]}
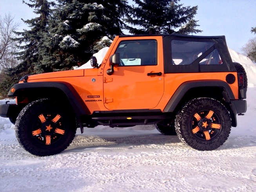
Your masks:
{"label": "pine tree rising directly above the jeep's black soft top", "polygon": [[202,32],[194,16],[198,9],[183,7],[180,0],[133,0],[137,6],[131,8],[125,19],[126,29],[132,34],[189,34]]}

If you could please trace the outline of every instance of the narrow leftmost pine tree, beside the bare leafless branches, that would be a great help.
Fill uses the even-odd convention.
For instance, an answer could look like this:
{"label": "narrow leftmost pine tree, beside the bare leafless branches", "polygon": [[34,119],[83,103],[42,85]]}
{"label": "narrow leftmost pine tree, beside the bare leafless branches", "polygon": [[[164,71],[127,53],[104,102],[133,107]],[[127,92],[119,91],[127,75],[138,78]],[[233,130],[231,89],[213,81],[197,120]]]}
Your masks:
{"label": "narrow leftmost pine tree, beside the bare leafless branches", "polygon": [[19,43],[18,48],[20,51],[18,59],[21,63],[14,69],[9,69],[11,75],[17,73],[34,74],[34,66],[37,65],[42,56],[38,54],[38,47],[40,47],[40,41],[45,33],[47,33],[48,19],[51,14],[51,6],[54,6],[54,2],[48,2],[47,0],[29,0],[31,4],[22,1],[29,7],[34,9],[34,13],[38,15],[36,18],[22,21],[27,24],[31,29],[23,30],[23,32],[15,32],[18,38],[15,41]]}

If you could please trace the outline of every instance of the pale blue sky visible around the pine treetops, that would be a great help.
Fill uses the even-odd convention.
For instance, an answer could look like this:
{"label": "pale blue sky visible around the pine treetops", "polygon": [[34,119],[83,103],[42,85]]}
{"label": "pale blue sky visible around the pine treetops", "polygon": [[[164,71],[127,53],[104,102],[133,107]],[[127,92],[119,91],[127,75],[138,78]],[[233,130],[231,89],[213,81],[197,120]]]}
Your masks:
{"label": "pale blue sky visible around the pine treetops", "polygon": [[[21,18],[26,20],[34,17],[33,9],[22,4],[22,0],[0,1],[0,15],[11,13],[15,16],[15,21],[21,22],[20,30],[26,27]],[[199,20],[198,29],[203,32],[197,35],[225,35],[227,45],[238,52],[250,38],[256,37],[251,33],[251,27],[256,27],[256,0],[180,0],[180,4],[191,7],[198,5],[195,20]]]}

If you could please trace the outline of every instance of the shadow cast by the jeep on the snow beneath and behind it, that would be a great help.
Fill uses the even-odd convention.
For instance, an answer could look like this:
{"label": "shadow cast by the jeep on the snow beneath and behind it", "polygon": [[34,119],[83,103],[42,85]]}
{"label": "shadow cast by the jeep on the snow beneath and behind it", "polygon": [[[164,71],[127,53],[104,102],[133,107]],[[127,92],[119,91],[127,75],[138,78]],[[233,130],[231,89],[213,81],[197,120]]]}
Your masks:
{"label": "shadow cast by the jeep on the snow beneath and behind it", "polygon": [[[94,149],[111,150],[116,149],[135,149],[140,147],[147,147],[154,149],[173,149],[180,148],[192,149],[186,145],[183,145],[178,136],[165,136],[163,134],[143,134],[143,135],[130,135],[130,136],[100,136],[100,135],[78,135],[74,139],[71,146],[65,150],[70,151],[88,151]],[[253,136],[245,136],[241,138],[230,137],[221,147],[216,150],[229,150],[240,149],[245,147],[255,147],[256,138]]]}

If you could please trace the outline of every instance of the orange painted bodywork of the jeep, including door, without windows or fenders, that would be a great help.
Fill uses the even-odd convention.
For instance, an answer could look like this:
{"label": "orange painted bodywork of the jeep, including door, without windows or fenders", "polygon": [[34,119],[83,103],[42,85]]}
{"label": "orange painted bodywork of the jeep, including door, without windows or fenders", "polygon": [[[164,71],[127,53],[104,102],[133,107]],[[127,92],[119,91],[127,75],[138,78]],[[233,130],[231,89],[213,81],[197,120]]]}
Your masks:
{"label": "orange painted bodywork of the jeep, including door, without windows or fenders", "polygon": [[[218,80],[226,82],[227,74],[236,72],[198,72],[164,74],[162,36],[137,37],[157,41],[157,65],[117,66],[108,75],[110,56],[117,45],[134,37],[115,38],[98,69],[79,69],[29,76],[27,82],[68,82],[78,92],[91,113],[106,110],[160,109],[163,111],[175,91],[184,82]],[[218,67],[218,66],[217,66]],[[162,72],[160,76],[147,73]],[[238,80],[229,84],[238,99]]]}

